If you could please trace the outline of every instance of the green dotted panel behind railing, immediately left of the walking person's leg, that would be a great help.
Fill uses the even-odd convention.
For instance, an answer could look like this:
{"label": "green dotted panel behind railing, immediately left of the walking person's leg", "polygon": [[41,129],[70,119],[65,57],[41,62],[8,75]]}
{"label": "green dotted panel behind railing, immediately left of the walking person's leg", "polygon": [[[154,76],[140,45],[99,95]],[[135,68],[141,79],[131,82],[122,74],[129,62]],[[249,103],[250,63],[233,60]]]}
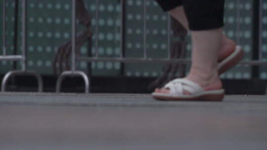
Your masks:
{"label": "green dotted panel behind railing, immediately left of the walking person's leg", "polygon": [[[127,24],[126,24],[126,56],[144,56],[144,9],[143,0],[127,0]],[[154,0],[146,0],[147,6],[147,57],[167,57],[167,20],[168,16],[163,13]],[[127,76],[158,76],[164,64],[126,64]]]}

